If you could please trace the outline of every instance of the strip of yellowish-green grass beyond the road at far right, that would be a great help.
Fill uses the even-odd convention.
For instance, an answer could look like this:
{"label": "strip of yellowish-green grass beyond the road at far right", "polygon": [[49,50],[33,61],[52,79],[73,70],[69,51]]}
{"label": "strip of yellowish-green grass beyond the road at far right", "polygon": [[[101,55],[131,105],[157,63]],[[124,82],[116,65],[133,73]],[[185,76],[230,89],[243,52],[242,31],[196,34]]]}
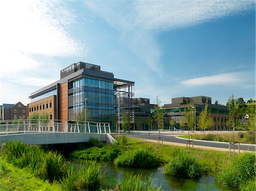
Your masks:
{"label": "strip of yellowish-green grass beyond the road at far right", "polygon": [[[179,137],[188,139],[188,135],[179,136]],[[201,134],[191,135],[191,139],[207,140],[207,141],[220,141],[220,142],[233,142],[233,133],[224,133],[224,134],[201,133]],[[255,131],[234,133],[234,142],[255,144]]]}

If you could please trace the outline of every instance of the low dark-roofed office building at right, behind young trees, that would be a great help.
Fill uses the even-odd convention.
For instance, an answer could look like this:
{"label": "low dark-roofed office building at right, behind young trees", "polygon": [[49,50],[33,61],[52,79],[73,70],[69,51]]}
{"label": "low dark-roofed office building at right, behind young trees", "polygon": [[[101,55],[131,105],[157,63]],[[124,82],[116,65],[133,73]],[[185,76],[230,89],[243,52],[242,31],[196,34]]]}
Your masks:
{"label": "low dark-roofed office building at right, behind young trees", "polygon": [[210,117],[213,118],[214,125],[212,130],[226,130],[229,127],[226,125],[229,120],[228,107],[224,105],[212,104],[212,98],[206,96],[196,97],[175,97],[172,98],[171,104],[164,104],[164,127],[169,128],[171,118],[175,121],[175,127],[179,128],[179,121],[181,118],[184,119],[184,108],[187,107],[188,103],[195,105],[196,116],[199,116],[204,111],[206,102],[208,101],[208,112]]}

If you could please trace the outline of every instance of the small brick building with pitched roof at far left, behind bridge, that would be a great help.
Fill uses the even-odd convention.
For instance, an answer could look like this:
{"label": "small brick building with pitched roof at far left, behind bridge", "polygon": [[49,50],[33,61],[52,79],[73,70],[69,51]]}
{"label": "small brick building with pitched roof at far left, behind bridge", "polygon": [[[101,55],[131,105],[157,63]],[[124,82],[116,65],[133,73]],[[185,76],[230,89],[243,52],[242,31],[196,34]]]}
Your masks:
{"label": "small brick building with pitched roof at far left, behind bridge", "polygon": [[3,104],[1,108],[1,120],[15,120],[22,117],[27,118],[27,107],[20,103],[16,104]]}

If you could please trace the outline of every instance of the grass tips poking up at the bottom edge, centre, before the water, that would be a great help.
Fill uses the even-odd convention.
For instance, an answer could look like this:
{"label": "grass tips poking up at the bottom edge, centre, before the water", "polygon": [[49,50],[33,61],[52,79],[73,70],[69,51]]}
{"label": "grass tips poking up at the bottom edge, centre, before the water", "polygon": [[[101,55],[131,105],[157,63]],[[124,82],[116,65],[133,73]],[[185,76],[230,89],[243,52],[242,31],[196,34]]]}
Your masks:
{"label": "grass tips poking up at the bottom edge, centre, before the water", "polygon": [[142,181],[142,175],[133,175],[123,177],[123,181],[117,184],[113,191],[161,191],[162,186],[154,186],[154,182],[151,181],[151,177]]}

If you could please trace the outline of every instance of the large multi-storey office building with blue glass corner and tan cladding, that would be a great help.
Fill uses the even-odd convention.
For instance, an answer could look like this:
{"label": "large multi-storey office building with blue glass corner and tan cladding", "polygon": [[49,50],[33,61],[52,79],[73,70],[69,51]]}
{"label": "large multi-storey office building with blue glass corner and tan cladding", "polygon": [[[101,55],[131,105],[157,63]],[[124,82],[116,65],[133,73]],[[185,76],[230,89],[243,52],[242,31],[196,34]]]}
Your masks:
{"label": "large multi-storey office building with blue glass corner and tan cladding", "polygon": [[86,110],[90,121],[111,122],[120,108],[121,112],[126,109],[134,122],[134,82],[114,78],[113,73],[90,63],[73,63],[60,71],[59,80],[29,98],[28,117],[38,112],[62,122],[75,121]]}

